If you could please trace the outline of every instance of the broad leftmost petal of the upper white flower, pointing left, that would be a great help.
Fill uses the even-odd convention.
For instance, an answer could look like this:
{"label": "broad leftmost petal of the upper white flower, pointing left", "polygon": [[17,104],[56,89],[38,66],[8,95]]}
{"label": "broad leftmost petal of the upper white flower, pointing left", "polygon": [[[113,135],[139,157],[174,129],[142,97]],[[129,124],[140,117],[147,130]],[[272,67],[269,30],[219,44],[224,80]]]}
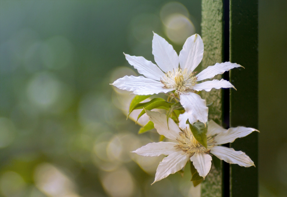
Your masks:
{"label": "broad leftmost petal of the upper white flower, pointing left", "polygon": [[[146,88],[149,91],[146,92],[140,92],[139,90],[145,89],[145,86],[149,84],[149,87]],[[157,94],[159,92],[168,92],[168,89],[162,88],[162,83],[155,81],[153,79],[148,79],[143,76],[124,76],[123,78],[119,78],[115,80],[115,82],[112,84],[116,86],[117,88],[120,88],[122,90],[127,91],[133,91],[136,92],[135,94],[141,94],[141,95],[148,95],[148,94]]]}

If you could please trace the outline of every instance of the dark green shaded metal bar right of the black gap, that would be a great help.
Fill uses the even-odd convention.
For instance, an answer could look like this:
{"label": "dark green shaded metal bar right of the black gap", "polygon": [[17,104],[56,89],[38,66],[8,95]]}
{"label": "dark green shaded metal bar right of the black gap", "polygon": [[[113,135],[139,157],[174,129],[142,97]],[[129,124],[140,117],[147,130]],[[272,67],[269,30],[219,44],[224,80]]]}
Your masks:
{"label": "dark green shaded metal bar right of the black gap", "polygon": [[[230,127],[258,128],[258,1],[230,0],[230,61],[245,69],[230,71]],[[231,144],[257,167],[230,165],[230,196],[258,196],[258,133]]]}

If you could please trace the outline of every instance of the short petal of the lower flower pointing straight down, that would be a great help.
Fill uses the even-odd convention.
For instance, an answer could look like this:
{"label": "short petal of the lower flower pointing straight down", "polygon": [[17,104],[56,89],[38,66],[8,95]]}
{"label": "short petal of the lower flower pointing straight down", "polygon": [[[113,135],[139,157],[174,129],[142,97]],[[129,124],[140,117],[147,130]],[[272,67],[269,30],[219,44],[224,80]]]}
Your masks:
{"label": "short petal of the lower flower pointing straight down", "polygon": [[209,173],[211,168],[212,157],[209,154],[195,152],[194,155],[190,158],[190,161],[193,162],[195,169],[199,173],[199,176],[205,178]]}

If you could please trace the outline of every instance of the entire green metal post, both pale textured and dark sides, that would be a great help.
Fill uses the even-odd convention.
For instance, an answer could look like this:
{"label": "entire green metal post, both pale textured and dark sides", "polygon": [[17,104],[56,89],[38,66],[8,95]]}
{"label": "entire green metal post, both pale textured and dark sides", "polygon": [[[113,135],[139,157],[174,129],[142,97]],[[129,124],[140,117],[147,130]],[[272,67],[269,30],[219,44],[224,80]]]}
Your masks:
{"label": "entire green metal post, both pale textured and dark sides", "polygon": [[[237,88],[202,92],[207,103],[213,101],[209,118],[224,127],[258,128],[258,1],[202,0],[202,67],[231,61],[245,67],[230,71],[225,78]],[[242,150],[258,165],[258,133],[226,144]],[[201,196],[258,196],[258,171],[255,167],[217,161],[201,185]]]}

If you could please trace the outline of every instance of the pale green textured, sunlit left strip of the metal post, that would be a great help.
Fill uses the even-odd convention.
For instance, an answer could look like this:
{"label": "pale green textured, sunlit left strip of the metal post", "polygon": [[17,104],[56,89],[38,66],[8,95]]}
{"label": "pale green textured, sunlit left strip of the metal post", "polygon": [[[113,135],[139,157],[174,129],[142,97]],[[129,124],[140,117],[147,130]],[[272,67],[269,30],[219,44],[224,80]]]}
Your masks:
{"label": "pale green textured, sunlit left strip of the metal post", "polygon": [[[223,5],[222,0],[202,0],[201,36],[204,43],[202,68],[222,62],[223,47]],[[220,79],[221,75],[215,77]],[[209,107],[209,119],[216,123],[222,123],[222,90],[212,89],[210,92],[203,91],[201,96],[206,99]],[[201,196],[222,196],[222,162],[213,157],[210,173],[201,184]]]}

